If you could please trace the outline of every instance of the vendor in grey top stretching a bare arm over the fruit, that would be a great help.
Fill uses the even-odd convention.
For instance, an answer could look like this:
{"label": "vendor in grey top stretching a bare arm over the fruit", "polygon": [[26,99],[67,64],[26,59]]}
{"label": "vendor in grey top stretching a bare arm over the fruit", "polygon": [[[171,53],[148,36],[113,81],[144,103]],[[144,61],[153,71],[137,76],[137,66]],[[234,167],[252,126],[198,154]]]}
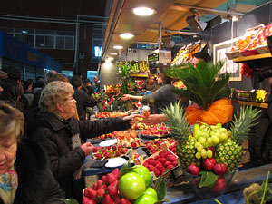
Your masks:
{"label": "vendor in grey top stretching a bare arm over the fruit", "polygon": [[166,73],[158,73],[157,80],[160,88],[156,92],[145,96],[124,94],[121,99],[124,101],[133,99],[145,104],[154,102],[154,110],[152,113],[159,114],[161,109],[166,107],[170,108],[170,104],[178,100],[178,95],[171,91],[173,84],[171,84],[171,78],[167,76]]}

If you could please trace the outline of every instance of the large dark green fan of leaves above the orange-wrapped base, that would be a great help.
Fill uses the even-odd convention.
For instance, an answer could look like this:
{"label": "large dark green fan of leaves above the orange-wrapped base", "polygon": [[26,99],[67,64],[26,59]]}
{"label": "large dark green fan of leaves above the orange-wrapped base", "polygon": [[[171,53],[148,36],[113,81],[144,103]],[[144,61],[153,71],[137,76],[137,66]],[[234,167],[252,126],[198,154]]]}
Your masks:
{"label": "large dark green fan of leaves above the orange-wrapped base", "polygon": [[173,88],[173,92],[198,103],[202,109],[207,110],[209,104],[230,94],[226,88],[230,73],[218,74],[223,65],[221,61],[213,64],[199,60],[197,68],[188,63],[186,68],[172,66],[170,70],[164,72],[172,78],[180,79],[187,87],[187,90]]}

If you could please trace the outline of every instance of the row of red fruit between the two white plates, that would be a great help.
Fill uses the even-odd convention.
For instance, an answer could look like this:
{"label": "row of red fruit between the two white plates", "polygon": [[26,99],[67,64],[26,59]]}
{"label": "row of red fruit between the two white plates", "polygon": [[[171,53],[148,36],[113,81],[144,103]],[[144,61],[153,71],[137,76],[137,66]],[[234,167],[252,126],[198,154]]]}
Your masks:
{"label": "row of red fruit between the two white plates", "polygon": [[113,145],[112,147],[94,147],[92,156],[95,159],[120,157],[129,153],[129,149],[121,145]]}

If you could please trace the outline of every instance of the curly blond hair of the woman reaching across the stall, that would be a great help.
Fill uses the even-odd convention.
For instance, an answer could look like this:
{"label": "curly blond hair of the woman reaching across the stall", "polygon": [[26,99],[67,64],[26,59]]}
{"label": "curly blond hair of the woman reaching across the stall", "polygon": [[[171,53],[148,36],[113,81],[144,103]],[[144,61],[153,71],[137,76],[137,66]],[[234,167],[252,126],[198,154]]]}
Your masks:
{"label": "curly blond hair of the woman reaching across the stall", "polygon": [[55,81],[48,83],[41,93],[39,108],[42,112],[58,113],[56,103],[66,105],[69,94],[73,95],[73,86],[70,83]]}

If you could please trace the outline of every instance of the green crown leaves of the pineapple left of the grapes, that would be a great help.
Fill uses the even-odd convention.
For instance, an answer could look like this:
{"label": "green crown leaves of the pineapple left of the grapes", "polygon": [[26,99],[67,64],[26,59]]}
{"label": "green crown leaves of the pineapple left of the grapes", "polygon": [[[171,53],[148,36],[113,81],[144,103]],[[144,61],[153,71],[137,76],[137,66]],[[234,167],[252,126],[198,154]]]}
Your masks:
{"label": "green crown leaves of the pineapple left of the grapes", "polygon": [[165,123],[170,126],[170,133],[173,138],[180,143],[187,141],[189,138],[189,124],[186,121],[183,107],[180,106],[180,102],[170,104],[170,108],[167,107],[162,109],[161,112],[168,118],[168,121]]}

